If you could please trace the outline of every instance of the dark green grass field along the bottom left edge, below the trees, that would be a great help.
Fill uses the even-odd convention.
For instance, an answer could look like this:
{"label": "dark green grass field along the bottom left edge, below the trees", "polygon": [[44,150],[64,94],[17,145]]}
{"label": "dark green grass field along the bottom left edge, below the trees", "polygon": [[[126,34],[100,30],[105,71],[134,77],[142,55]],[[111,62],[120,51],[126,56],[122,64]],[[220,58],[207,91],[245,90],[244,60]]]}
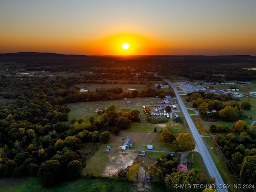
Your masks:
{"label": "dark green grass field along the bottom left edge, below the trees", "polygon": [[[4,192],[134,192],[138,186],[130,181],[114,180],[111,178],[80,178],[73,181],[65,181],[51,187],[44,188],[41,180],[36,177],[26,178],[1,178],[0,188]],[[163,186],[152,185],[151,191],[161,192]],[[150,191],[150,190],[144,190]]]}

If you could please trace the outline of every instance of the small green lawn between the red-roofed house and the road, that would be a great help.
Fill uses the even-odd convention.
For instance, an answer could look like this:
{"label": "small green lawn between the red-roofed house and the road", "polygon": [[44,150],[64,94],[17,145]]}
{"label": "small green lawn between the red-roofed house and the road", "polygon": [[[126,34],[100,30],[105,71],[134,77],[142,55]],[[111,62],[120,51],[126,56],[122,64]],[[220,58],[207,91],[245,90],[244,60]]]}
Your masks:
{"label": "small green lawn between the red-roofed house and the road", "polygon": [[190,152],[188,156],[186,156],[186,160],[189,163],[188,170],[198,169],[201,173],[205,173],[208,175],[208,171],[204,164],[204,161],[198,152]]}

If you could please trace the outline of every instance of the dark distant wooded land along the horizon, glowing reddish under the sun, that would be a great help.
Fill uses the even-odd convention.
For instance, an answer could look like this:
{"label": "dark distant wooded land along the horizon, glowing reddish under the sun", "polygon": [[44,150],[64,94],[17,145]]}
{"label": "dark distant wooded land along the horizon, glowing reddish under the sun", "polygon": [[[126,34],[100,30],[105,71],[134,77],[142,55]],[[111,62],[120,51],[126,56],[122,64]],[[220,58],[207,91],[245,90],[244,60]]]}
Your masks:
{"label": "dark distant wooded land along the horizon, glowing reddish under the sun", "polygon": [[[190,80],[252,81],[256,80],[255,56],[83,56],[50,53],[1,54],[1,62],[14,61],[26,65],[26,70],[93,71],[102,78],[134,78],[134,74],[156,72],[158,76],[172,79],[174,76]],[[47,67],[46,67],[47,66]],[[122,75],[120,75],[122,74]],[[223,75],[223,76],[220,76]],[[136,79],[153,78],[139,76]],[[151,78],[151,79],[150,79]],[[94,78],[95,79],[95,78]]]}

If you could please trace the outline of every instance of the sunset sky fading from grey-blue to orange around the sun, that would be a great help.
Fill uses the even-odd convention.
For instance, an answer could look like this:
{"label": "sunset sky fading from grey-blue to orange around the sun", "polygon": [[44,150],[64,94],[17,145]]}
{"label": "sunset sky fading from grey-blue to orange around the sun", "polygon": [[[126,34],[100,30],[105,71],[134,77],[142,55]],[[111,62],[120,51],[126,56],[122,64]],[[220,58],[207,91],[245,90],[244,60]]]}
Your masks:
{"label": "sunset sky fading from grey-blue to orange around the sun", "polygon": [[0,0],[9,52],[256,55],[256,0]]}

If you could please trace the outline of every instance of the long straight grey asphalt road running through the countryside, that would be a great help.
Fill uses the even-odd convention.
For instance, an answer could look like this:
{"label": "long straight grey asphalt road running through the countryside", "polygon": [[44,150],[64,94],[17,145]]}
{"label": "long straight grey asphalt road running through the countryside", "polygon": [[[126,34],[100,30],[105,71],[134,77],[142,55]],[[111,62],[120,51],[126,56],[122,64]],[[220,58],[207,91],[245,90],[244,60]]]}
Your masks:
{"label": "long straight grey asphalt road running through the countryside", "polygon": [[227,186],[228,184],[225,184],[224,181],[222,180],[222,177],[220,176],[220,173],[219,173],[216,165],[214,164],[214,162],[210,156],[210,153],[208,152],[208,149],[206,148],[206,146],[202,140],[202,137],[198,133],[198,130],[197,130],[194,122],[190,118],[190,115],[188,114],[188,110],[186,109],[184,103],[182,102],[182,99],[180,98],[178,91],[176,90],[175,86],[170,81],[168,81],[168,80],[166,80],[166,81],[172,86],[172,88],[176,94],[178,103],[180,104],[182,112],[186,118],[186,121],[188,122],[188,126],[190,127],[192,136],[194,137],[194,140],[196,143],[196,150],[201,154],[209,175],[214,177],[216,180],[216,190],[218,192],[228,192],[228,189],[226,189],[226,188],[228,188],[228,186]]}

